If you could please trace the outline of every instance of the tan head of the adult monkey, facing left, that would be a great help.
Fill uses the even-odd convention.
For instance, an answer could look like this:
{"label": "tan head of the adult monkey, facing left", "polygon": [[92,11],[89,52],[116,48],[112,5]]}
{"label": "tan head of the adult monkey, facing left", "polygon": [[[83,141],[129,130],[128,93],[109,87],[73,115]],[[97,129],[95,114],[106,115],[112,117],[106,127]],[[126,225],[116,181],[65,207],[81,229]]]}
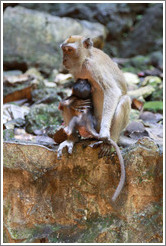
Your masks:
{"label": "tan head of the adult monkey, facing left", "polygon": [[63,50],[63,65],[68,70],[82,65],[92,46],[90,38],[70,36],[60,46]]}

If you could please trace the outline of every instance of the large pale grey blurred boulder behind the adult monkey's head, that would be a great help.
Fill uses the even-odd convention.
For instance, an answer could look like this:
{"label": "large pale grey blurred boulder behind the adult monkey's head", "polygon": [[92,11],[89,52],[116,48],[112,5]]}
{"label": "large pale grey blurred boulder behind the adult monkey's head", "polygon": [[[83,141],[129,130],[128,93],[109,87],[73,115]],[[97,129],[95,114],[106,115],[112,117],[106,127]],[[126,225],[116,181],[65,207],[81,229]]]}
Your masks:
{"label": "large pale grey blurred boulder behind the adult monkey's head", "polygon": [[[21,6],[8,7],[4,12],[4,64],[26,63],[45,73],[59,68],[59,45],[70,35],[105,39],[105,27],[99,23],[60,18]],[[102,39],[101,39],[102,37]]]}

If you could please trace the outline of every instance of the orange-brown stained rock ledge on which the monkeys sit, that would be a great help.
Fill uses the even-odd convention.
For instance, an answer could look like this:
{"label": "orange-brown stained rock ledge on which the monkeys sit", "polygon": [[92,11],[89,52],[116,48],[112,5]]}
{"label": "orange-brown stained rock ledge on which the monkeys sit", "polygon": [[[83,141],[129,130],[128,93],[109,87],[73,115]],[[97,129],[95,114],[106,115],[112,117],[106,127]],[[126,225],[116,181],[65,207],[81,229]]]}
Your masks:
{"label": "orange-brown stained rock ledge on which the monkeys sit", "polygon": [[[116,156],[75,146],[72,156],[37,145],[4,143],[4,242],[162,242],[162,153],[148,138],[123,151],[126,184]],[[113,165],[116,163],[116,165]]]}

